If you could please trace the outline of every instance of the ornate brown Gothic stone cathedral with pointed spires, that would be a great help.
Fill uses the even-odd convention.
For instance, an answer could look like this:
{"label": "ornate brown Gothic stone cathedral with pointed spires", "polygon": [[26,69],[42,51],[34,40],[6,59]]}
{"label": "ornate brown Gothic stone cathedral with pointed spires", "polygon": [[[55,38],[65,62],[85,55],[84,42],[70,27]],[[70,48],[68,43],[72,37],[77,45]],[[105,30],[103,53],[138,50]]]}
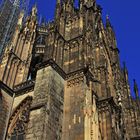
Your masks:
{"label": "ornate brown Gothic stone cathedral with pointed spires", "polygon": [[95,0],[57,0],[39,23],[20,10],[0,60],[0,140],[140,140],[114,29]]}

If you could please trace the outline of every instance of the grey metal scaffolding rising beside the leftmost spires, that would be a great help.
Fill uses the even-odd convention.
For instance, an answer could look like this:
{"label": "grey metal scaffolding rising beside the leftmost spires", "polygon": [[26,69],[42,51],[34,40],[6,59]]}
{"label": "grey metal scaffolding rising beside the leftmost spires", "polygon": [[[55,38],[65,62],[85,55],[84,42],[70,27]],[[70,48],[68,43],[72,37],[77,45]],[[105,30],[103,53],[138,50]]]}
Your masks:
{"label": "grey metal scaffolding rising beside the leftmost spires", "polygon": [[[0,7],[0,58],[11,41],[21,10],[28,14],[29,0],[3,0]],[[0,59],[1,60],[1,59]]]}

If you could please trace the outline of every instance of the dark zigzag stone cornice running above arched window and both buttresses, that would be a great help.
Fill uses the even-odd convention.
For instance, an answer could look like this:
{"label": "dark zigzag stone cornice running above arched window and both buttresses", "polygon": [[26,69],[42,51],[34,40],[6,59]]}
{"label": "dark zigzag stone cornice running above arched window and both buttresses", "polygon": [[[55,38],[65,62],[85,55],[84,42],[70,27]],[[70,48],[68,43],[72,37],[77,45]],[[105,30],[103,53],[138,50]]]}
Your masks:
{"label": "dark zigzag stone cornice running above arched window and both buttresses", "polygon": [[[36,68],[37,68],[37,70],[40,70],[40,69],[48,67],[48,66],[51,66],[64,80],[71,80],[73,78],[76,78],[76,76],[82,75],[82,76],[85,76],[88,81],[100,83],[99,81],[97,81],[94,78],[93,74],[90,72],[88,67],[86,67],[86,68],[83,67],[77,71],[73,71],[73,72],[66,74],[56,64],[56,62],[54,60],[50,59],[48,61],[38,64]],[[15,86],[13,90],[11,88],[9,88],[7,85],[5,85],[3,82],[0,82],[0,87],[2,87],[2,89],[4,89],[10,96],[12,96],[14,93],[15,93],[15,96],[20,96],[29,91],[33,91],[34,86],[35,86],[35,79],[21,83],[21,84]]]}

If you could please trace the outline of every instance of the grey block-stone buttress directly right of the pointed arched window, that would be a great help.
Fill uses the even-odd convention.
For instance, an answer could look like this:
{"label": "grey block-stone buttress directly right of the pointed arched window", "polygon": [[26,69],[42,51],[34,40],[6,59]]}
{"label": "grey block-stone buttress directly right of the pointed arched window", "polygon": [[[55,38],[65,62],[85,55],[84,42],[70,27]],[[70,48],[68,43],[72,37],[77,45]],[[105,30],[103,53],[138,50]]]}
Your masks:
{"label": "grey block-stone buttress directly right of the pointed arched window", "polygon": [[50,66],[37,72],[26,140],[60,140],[64,80]]}

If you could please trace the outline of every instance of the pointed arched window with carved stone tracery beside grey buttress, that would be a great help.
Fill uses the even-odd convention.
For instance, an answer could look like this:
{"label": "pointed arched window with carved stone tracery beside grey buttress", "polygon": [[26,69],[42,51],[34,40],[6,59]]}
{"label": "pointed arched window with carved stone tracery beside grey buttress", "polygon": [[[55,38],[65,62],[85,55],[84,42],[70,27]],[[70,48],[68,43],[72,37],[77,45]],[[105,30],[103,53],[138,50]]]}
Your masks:
{"label": "pointed arched window with carved stone tracery beside grey buttress", "polygon": [[32,97],[26,97],[13,112],[9,121],[8,139],[25,140],[25,129],[29,121]]}

